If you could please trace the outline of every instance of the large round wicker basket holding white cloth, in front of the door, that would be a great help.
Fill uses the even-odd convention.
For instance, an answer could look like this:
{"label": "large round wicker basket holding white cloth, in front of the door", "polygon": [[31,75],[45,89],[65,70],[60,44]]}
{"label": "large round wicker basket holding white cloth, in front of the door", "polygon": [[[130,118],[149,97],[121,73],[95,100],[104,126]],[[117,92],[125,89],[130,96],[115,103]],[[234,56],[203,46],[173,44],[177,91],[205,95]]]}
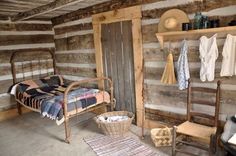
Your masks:
{"label": "large round wicker basket holding white cloth, in front of the door", "polygon": [[[106,118],[110,116],[128,116],[129,118],[124,121],[117,121],[117,122],[103,122],[100,121],[98,118],[100,116]],[[130,125],[132,120],[134,119],[134,114],[127,111],[114,111],[114,112],[107,112],[103,113],[95,118],[98,127],[102,129],[105,135],[123,135],[129,131]]]}

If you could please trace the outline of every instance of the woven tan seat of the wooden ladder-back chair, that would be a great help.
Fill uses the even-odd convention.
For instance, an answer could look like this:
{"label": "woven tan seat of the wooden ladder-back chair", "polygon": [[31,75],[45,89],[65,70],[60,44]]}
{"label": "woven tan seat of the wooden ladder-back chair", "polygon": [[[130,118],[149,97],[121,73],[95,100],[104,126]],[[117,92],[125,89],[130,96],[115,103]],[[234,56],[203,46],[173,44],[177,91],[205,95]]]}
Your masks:
{"label": "woven tan seat of the wooden ladder-back chair", "polygon": [[179,126],[177,126],[176,132],[210,143],[210,136],[216,133],[216,127],[209,127],[193,122],[186,121]]}

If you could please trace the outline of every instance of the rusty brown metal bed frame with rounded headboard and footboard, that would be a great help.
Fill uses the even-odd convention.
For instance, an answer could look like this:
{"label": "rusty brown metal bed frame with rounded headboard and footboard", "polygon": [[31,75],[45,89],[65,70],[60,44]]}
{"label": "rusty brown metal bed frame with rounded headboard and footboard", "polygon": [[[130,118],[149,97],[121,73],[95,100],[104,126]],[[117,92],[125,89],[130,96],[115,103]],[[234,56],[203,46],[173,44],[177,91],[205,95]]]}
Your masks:
{"label": "rusty brown metal bed frame with rounded headboard and footboard", "polygon": [[[12,56],[11,56],[11,59],[10,59],[10,63],[11,63],[11,70],[12,70],[12,76],[13,76],[13,83],[17,83],[17,72],[16,72],[16,65],[15,63],[16,62],[20,62],[20,61],[15,61],[17,55],[20,55],[20,54],[23,54],[23,53],[32,53],[32,52],[13,52],[12,53]],[[51,59],[52,59],[52,65],[53,65],[53,74],[56,74],[56,65],[55,65],[55,54],[53,51],[46,51],[46,52],[42,52],[42,53],[48,53],[50,54],[51,56]],[[45,61],[45,59],[42,59],[44,60],[44,62],[46,62],[46,67],[47,67],[47,71],[48,71],[48,62]],[[21,62],[24,62],[25,60],[21,60]],[[30,69],[31,69],[31,77],[29,79],[33,79],[34,75],[33,75],[33,61],[31,60],[30,61]],[[34,61],[35,62],[35,61]],[[36,61],[37,62],[37,61]],[[40,61],[38,59],[38,65],[39,67],[42,65],[42,61]],[[21,66],[21,70],[24,72],[24,66],[22,65]],[[41,68],[40,68],[40,71],[41,71]],[[47,75],[49,75],[49,73],[47,73]],[[41,72],[39,72],[39,78],[43,77],[41,75]],[[27,78],[24,76],[24,73],[23,73],[23,76],[22,76],[23,80],[27,80]],[[95,106],[92,106],[90,108],[87,108],[85,109],[84,111],[82,112],[77,112],[77,111],[73,111],[73,113],[68,113],[67,112],[67,96],[68,96],[68,93],[76,88],[76,87],[79,87],[81,84],[86,84],[86,83],[92,83],[92,82],[97,82],[98,84],[103,84],[103,86],[101,86],[100,88],[102,88],[104,90],[104,84],[105,84],[105,81],[107,81],[107,84],[108,84],[108,89],[107,91],[110,91],[110,103],[102,103],[102,104],[98,104],[98,105],[95,105]],[[36,109],[33,109],[31,107],[28,107],[26,105],[24,105],[24,103],[22,103],[20,100],[18,100],[15,96],[15,100],[16,100],[16,103],[17,103],[17,110],[18,110],[18,114],[21,115],[22,111],[21,111],[21,106],[24,106],[32,111],[36,111],[36,112],[40,112],[39,110],[36,110]],[[75,82],[72,82],[65,90],[64,92],[64,99],[63,99],[63,107],[64,107],[64,110],[63,110],[63,115],[64,115],[64,118],[65,118],[65,121],[64,121],[64,125],[65,125],[65,142],[66,143],[70,143],[70,127],[69,127],[69,119],[76,116],[76,115],[79,115],[79,114],[82,114],[82,113],[85,113],[85,112],[90,112],[90,111],[93,111],[95,109],[99,109],[99,108],[102,108],[102,107],[105,107],[105,106],[110,106],[110,110],[113,111],[114,109],[114,94],[113,94],[113,82],[112,80],[110,80],[109,78],[107,77],[98,77],[98,78],[92,78],[92,79],[86,79],[86,80],[80,80],[80,81],[75,81]]]}

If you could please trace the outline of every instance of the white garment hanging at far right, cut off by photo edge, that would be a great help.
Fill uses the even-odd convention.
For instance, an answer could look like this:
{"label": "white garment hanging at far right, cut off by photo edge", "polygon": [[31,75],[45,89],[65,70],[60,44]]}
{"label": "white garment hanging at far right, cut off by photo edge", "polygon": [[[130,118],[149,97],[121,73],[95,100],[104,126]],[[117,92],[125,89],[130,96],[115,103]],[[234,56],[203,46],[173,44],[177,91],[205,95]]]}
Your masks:
{"label": "white garment hanging at far right, cut off by photo edge", "polygon": [[222,55],[220,76],[236,75],[236,36],[227,35]]}

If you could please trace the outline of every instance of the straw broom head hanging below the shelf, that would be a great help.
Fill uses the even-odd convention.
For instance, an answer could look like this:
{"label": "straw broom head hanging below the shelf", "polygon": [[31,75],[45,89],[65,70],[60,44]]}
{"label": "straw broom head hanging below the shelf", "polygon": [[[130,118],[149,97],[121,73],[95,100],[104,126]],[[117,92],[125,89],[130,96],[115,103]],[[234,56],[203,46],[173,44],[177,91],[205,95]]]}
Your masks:
{"label": "straw broom head hanging below the shelf", "polygon": [[174,62],[173,62],[173,54],[169,53],[167,56],[167,62],[164,69],[164,72],[161,77],[161,82],[165,84],[175,84],[175,69],[174,69]]}

